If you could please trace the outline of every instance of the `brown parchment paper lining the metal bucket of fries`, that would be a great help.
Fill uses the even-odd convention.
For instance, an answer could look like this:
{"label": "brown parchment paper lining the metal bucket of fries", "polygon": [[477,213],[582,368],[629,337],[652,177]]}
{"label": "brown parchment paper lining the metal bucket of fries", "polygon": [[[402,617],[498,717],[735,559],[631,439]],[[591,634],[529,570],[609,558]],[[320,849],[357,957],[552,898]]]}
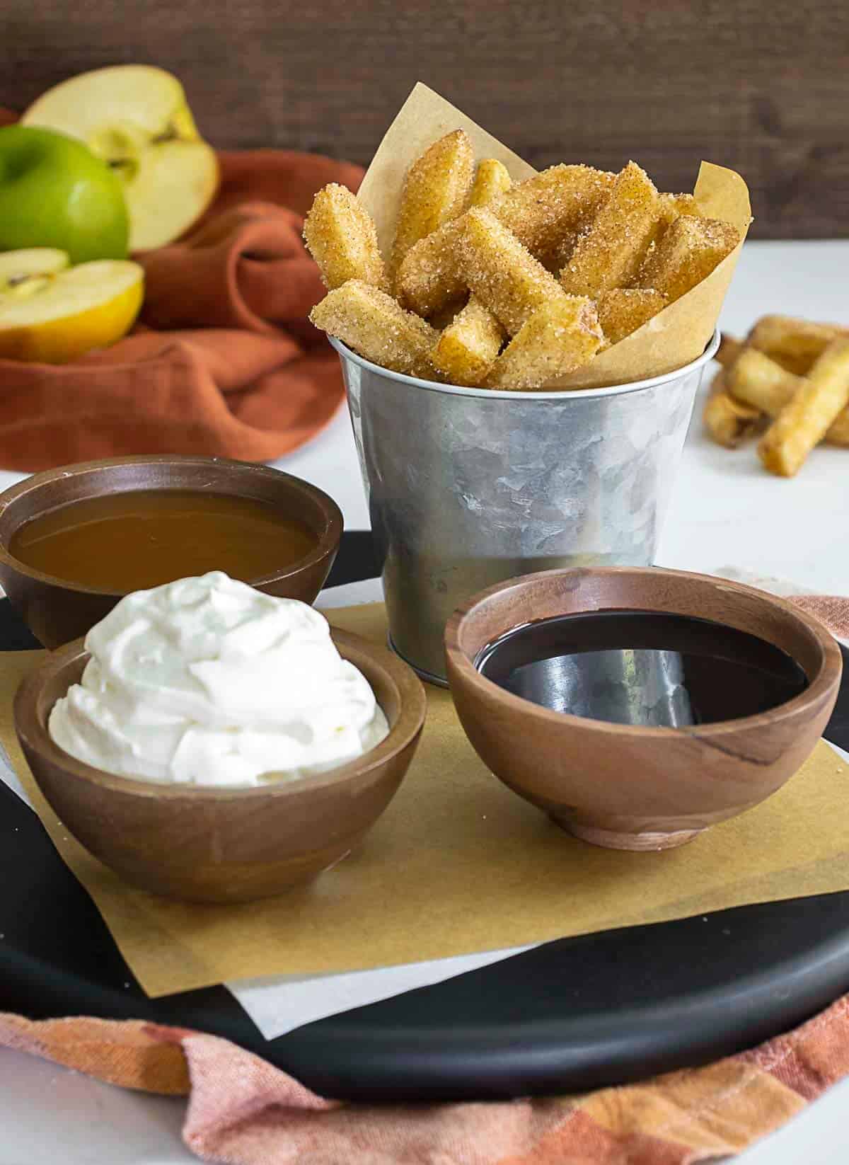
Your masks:
{"label": "brown parchment paper lining the metal bucket of fries", "polygon": [[[475,156],[496,157],[522,182],[537,171],[500,141],[475,125],[450,101],[420,82],[398,111],[395,121],[377,147],[358,195],[377,226],[384,256],[389,255],[404,175],[429,146],[453,129],[465,129]],[[564,120],[564,154],[568,150],[568,119]],[[564,162],[588,158],[563,157]],[[622,164],[628,161],[623,157]],[[635,158],[639,162],[639,158]],[[553,381],[549,388],[601,388],[659,376],[695,360],[714,333],[722,301],[731,282],[743,239],[751,223],[749,190],[734,170],[702,162],[693,189],[699,206],[709,218],[737,227],[741,241],[706,280],[692,291],[658,312],[643,327],[597,355],[586,368]]]}

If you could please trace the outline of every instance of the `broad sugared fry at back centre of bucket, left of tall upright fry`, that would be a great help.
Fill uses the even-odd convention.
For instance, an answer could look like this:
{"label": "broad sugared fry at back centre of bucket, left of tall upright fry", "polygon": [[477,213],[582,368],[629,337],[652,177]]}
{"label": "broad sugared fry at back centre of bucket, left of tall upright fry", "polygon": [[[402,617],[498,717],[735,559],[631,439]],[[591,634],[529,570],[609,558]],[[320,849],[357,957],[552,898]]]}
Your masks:
{"label": "broad sugared fry at back centre of bucket, left of tall upright fry", "polygon": [[551,165],[510,188],[497,217],[537,259],[551,253],[610,193],[615,175],[592,165]]}

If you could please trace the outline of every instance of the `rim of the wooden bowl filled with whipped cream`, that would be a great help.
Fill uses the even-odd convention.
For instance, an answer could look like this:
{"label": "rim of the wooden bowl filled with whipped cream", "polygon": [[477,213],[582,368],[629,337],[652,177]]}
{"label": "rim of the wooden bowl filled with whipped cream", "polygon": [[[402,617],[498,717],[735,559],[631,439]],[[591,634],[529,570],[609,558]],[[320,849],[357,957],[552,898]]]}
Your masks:
{"label": "rim of the wooden bowl filled with whipped cream", "polygon": [[[365,657],[370,668],[382,671],[384,677],[389,678],[398,692],[399,712],[397,721],[389,729],[389,734],[378,744],[363,753],[362,756],[354,757],[353,761],[335,769],[328,769],[326,772],[273,781],[263,785],[188,785],[120,776],[77,760],[54,742],[47,727],[41,723],[36,708],[38,697],[48,679],[71,668],[82,656],[89,656],[82,638],[73,640],[55,651],[49,651],[45,658],[24,676],[13,701],[15,733],[21,744],[26,744],[26,748],[35,753],[41,761],[47,761],[54,767],[70,772],[76,779],[85,781],[90,785],[95,785],[108,792],[132,795],[146,799],[189,799],[198,804],[227,804],[267,797],[285,797],[303,790],[344,785],[354,778],[363,777],[380,769],[416,740],[424,725],[427,697],[412,668],[388,648],[373,643],[353,631],[332,626],[331,636],[344,659],[348,659],[351,655],[360,659]],[[35,772],[33,776],[37,784],[38,778]]]}

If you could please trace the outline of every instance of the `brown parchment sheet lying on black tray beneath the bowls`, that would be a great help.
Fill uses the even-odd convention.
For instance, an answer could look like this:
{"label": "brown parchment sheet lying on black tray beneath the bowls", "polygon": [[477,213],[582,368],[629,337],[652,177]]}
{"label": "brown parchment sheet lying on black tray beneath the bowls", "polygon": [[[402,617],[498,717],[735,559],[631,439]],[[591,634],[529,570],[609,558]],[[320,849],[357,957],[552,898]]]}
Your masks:
{"label": "brown parchment sheet lying on black tray beneath the bowls", "polygon": [[[328,616],[385,642],[382,605]],[[359,852],[311,887],[266,902],[168,902],[133,890],[91,857],[38,793],[10,709],[41,655],[1,656],[0,739],[62,857],[153,996],[500,949],[849,888],[849,765],[825,743],[783,790],[736,820],[680,849],[622,853],[568,836],[509,792],[477,760],[450,693],[430,687],[418,754]]]}

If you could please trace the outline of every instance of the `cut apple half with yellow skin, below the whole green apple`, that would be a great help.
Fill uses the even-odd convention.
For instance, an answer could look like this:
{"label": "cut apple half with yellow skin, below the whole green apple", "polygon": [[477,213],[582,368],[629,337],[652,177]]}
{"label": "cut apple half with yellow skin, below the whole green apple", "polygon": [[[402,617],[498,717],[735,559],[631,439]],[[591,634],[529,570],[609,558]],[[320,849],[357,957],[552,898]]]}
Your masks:
{"label": "cut apple half with yellow skin, below the whole green apple", "polygon": [[129,331],[144,296],[137,263],[101,259],[68,267],[63,252],[41,250],[40,266],[38,254],[0,255],[0,359],[64,363]]}

